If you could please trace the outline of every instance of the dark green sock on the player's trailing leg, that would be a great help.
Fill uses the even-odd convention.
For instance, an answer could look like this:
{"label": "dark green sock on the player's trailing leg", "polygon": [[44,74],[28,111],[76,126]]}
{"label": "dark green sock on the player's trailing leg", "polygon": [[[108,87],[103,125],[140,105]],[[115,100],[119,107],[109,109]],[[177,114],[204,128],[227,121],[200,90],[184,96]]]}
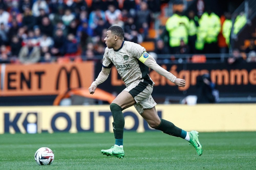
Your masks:
{"label": "dark green sock on the player's trailing leg", "polygon": [[172,135],[172,136],[176,136],[176,137],[180,137],[181,128],[178,128],[177,126],[175,126],[172,122],[169,122],[167,120],[161,119],[161,123],[159,124],[159,126],[156,128],[157,130],[161,130],[164,133],[168,134],[168,135]]}

